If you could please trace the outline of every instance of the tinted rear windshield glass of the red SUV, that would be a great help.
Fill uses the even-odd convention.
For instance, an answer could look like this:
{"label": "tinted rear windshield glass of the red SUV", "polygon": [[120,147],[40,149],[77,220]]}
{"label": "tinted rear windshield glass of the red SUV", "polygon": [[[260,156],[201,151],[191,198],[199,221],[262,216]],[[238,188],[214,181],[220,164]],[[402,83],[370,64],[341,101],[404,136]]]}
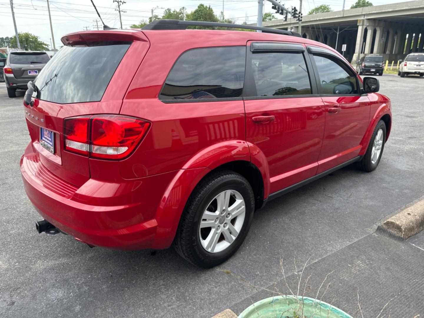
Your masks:
{"label": "tinted rear windshield glass of the red SUV", "polygon": [[131,42],[102,42],[62,47],[34,84],[41,100],[53,103],[100,101]]}

